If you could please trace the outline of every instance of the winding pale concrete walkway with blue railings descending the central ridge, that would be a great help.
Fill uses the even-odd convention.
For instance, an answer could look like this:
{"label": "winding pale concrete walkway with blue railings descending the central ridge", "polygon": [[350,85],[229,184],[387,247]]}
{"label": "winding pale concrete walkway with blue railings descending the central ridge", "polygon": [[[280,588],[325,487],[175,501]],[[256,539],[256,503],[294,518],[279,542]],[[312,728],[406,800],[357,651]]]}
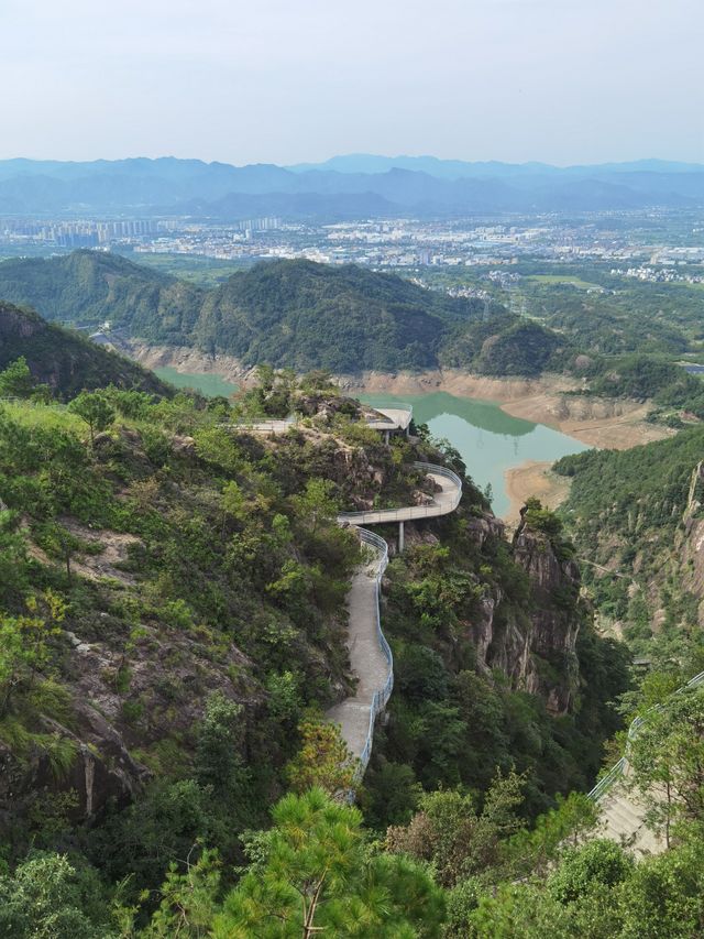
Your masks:
{"label": "winding pale concrete walkway with blue railings descending the central ridge", "polygon": [[[460,478],[451,470],[432,463],[415,466],[425,469],[440,487],[427,505],[374,512],[343,512],[338,515],[338,522],[403,523],[413,518],[437,517],[454,511],[462,496]],[[375,559],[358,570],[348,593],[348,649],[352,670],[358,677],[358,687],[353,696],[330,708],[326,718],[340,724],[349,750],[360,760],[362,775],[372,755],[374,721],[386,707],[394,686],[394,663],[382,631],[380,613],[381,580],[388,559],[388,546],[384,538],[365,528],[359,528],[359,534],[362,542],[373,548]]]}

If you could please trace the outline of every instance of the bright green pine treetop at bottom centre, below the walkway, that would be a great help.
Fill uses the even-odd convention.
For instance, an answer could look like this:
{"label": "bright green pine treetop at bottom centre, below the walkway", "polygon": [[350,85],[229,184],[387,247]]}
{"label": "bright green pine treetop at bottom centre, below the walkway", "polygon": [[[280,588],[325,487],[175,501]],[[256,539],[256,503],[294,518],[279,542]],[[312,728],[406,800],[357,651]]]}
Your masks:
{"label": "bright green pine treetop at bottom centre, below the walkway", "polygon": [[442,895],[417,864],[371,853],[358,809],[320,789],[274,808],[265,859],[224,899],[216,937],[439,937]]}

